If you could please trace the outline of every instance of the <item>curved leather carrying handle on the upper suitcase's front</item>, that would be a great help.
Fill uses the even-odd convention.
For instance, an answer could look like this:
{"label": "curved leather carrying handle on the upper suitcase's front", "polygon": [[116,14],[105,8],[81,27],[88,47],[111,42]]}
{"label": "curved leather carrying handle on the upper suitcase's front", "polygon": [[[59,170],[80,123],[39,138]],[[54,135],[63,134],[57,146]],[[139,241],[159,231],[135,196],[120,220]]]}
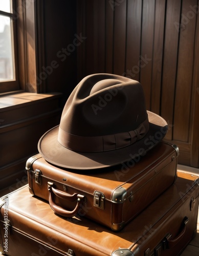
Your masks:
{"label": "curved leather carrying handle on the upper suitcase's front", "polygon": [[[63,217],[74,217],[77,212],[80,209],[81,206],[81,200],[84,198],[83,195],[80,194],[73,194],[70,195],[68,193],[63,193],[62,191],[56,189],[54,186],[54,183],[48,182],[48,190],[49,190],[49,204],[51,208],[56,212],[56,214],[61,215]],[[55,201],[53,200],[54,195],[69,201],[75,201],[77,200],[77,204],[73,210],[67,210],[62,208],[61,206],[56,205]]]}

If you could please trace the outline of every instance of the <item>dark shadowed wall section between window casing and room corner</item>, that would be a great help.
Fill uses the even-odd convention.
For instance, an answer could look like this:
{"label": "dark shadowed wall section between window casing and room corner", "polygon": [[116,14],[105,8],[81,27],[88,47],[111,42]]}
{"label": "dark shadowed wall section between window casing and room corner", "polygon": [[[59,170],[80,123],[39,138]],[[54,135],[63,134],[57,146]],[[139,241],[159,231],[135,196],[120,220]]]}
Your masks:
{"label": "dark shadowed wall section between window casing and room corner", "polygon": [[[37,70],[39,93],[62,93],[62,105],[77,85],[77,49],[84,45],[84,31],[77,31],[77,8],[74,0],[36,0],[37,16],[36,35],[42,35],[37,49]],[[40,3],[41,2],[41,3]],[[85,29],[85,28],[84,28]],[[39,55],[44,56],[39,60]],[[83,59],[85,66],[85,59]]]}

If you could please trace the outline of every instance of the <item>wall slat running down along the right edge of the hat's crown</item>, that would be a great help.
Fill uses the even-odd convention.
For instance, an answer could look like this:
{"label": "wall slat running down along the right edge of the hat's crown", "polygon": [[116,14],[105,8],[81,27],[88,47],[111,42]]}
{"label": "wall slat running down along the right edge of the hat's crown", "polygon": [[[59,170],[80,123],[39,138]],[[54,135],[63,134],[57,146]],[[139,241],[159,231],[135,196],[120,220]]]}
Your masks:
{"label": "wall slat running down along the right edge of the hat's crown", "polygon": [[153,28],[155,0],[143,0],[140,82],[143,86],[146,108],[150,110]]}

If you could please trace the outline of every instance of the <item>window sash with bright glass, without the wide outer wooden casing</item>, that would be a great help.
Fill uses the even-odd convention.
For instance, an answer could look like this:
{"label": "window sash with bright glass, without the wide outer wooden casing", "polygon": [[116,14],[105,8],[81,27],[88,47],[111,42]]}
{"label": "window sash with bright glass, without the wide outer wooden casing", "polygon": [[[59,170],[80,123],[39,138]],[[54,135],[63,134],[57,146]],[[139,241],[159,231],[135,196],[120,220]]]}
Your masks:
{"label": "window sash with bright glass, without the wide outer wooden casing", "polygon": [[0,1],[0,93],[18,90],[14,1]]}

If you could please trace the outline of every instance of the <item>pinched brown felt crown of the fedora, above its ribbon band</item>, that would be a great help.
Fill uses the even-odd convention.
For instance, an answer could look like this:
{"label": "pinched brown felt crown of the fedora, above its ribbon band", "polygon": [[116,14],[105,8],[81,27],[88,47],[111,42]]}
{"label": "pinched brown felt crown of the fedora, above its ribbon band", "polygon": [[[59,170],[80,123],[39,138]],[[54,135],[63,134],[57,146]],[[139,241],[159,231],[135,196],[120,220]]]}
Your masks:
{"label": "pinched brown felt crown of the fedora, above its ribbon band", "polygon": [[63,131],[77,136],[109,135],[135,130],[147,118],[141,84],[113,76],[102,80],[99,76],[94,83],[93,76],[88,76],[77,85],[62,112]]}

